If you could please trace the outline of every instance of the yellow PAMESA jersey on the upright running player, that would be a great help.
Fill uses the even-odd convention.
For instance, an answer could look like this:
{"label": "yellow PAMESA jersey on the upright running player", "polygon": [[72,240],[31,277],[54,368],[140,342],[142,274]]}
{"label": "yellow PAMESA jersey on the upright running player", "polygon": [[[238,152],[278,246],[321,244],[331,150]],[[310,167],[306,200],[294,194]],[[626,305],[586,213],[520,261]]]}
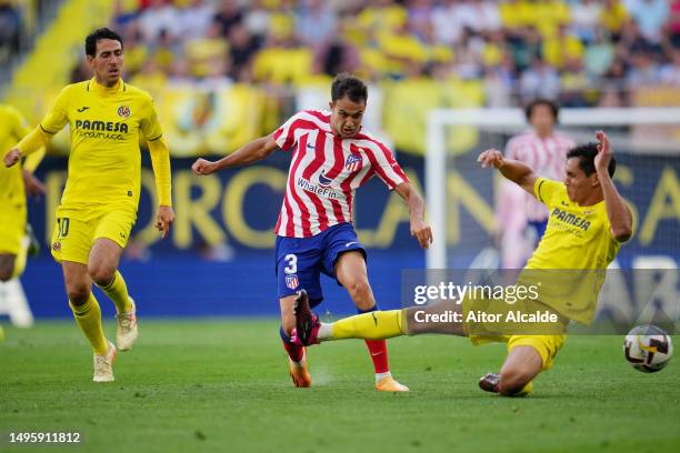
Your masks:
{"label": "yellow PAMESA jersey on the upright running player", "polygon": [[109,207],[137,212],[141,189],[140,135],[162,137],[151,95],[122,80],[108,88],[91,80],[67,85],[40,122],[54,134],[69,125],[69,173],[57,214]]}

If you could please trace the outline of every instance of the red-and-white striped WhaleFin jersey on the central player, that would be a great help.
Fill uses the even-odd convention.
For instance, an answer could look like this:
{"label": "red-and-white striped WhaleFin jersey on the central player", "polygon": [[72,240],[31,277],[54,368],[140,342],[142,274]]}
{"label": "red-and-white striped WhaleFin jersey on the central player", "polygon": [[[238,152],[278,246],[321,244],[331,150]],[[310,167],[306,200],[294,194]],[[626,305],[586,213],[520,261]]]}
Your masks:
{"label": "red-and-white striped WhaleFin jersey on the central player", "polygon": [[351,139],[334,135],[330,111],[296,113],[273,137],[279,148],[292,150],[276,226],[280,236],[309,238],[352,222],[354,191],[373,174],[390,190],[408,182],[392,152],[366,130]]}

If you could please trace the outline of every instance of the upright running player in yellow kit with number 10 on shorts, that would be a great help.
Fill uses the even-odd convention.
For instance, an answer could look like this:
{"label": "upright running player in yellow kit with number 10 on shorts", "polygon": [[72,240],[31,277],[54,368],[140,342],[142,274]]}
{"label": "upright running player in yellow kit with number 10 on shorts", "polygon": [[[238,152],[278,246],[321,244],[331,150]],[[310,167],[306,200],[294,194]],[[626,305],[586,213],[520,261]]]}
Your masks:
{"label": "upright running player in yellow kit with number 10 on shorts", "polygon": [[112,30],[96,30],[86,38],[86,54],[94,77],[66,87],[40,124],[7,153],[4,164],[17,163],[69,125],[68,180],[51,249],[76,321],[94,352],[93,381],[110,382],[117,348],[103,334],[92,282],[116,304],[118,350],[131,349],[138,336],[136,308],[118,265],[137,219],[140,138],[151,154],[159,199],[156,226],[163,236],[174,213],[168,147],[151,97],[121,79],[122,39]]}

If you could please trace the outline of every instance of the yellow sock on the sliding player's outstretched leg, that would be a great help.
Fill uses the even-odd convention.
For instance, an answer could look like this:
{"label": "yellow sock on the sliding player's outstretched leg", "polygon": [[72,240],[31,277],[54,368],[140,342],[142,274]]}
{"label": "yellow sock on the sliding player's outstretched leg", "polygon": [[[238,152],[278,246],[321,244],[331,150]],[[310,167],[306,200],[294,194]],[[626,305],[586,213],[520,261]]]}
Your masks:
{"label": "yellow sock on the sliding player's outstretched leg", "polygon": [[407,332],[402,329],[406,310],[374,311],[344,318],[331,324],[329,340],[366,339],[381,340],[400,336]]}

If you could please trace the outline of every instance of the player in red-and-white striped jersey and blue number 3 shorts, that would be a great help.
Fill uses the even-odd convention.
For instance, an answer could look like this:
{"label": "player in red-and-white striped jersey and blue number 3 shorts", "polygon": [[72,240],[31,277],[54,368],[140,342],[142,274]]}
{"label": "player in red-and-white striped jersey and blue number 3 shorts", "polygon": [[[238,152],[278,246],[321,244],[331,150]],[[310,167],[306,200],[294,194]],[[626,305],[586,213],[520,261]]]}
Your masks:
{"label": "player in red-and-white striped jersey and blue number 3 shorts", "polygon": [[[368,89],[353,76],[336,77],[330,111],[304,110],[276,132],[253,140],[232,154],[210,162],[198,159],[196,174],[246,165],[276,149],[292,151],[283,205],[276,226],[276,270],[281,306],[281,339],[296,386],[311,385],[304,349],[291,342],[296,326],[297,292],[306,290],[312,306],[323,300],[320,274],[334,278],[349,292],[359,313],[378,309],[368,281],[366,249],[352,225],[354,191],[373,175],[404,200],[411,234],[427,249],[432,232],[424,221],[424,203],[411,187],[392,152],[366,131],[361,121]],[[384,340],[367,340],[376,369],[376,387],[408,391],[389,371]]]}

